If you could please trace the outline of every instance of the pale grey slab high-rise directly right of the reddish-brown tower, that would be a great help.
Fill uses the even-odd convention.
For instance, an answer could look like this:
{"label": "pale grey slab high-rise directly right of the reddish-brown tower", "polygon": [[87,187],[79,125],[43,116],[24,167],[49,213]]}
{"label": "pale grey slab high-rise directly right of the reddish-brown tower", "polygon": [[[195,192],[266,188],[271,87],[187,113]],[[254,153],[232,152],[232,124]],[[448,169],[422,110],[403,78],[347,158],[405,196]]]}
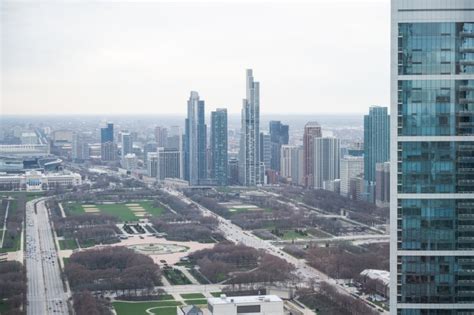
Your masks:
{"label": "pale grey slab high-rise directly right of the reddish-brown tower", "polygon": [[325,182],[339,178],[339,152],[339,139],[313,138],[313,188],[323,189]]}

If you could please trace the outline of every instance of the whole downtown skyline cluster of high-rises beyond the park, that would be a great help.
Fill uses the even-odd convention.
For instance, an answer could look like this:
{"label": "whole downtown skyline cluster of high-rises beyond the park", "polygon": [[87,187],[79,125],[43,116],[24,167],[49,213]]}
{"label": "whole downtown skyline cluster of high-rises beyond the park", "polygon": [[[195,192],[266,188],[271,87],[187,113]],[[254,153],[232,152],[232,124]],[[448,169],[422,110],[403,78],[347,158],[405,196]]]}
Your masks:
{"label": "whole downtown skyline cluster of high-rises beyond the park", "polygon": [[[133,134],[119,133],[117,155],[114,126],[101,129],[101,159],[119,157],[122,168],[134,171]],[[290,144],[289,126],[270,121],[268,132],[260,124],[260,85],[252,70],[246,72],[237,154],[228,147],[225,108],[210,113],[205,101],[192,91],[187,101],[184,133],[179,126],[155,128],[155,141],[144,145],[146,175],[158,181],[182,181],[190,186],[261,186],[281,182],[311,189],[326,189],[355,200],[388,206],[390,191],[389,115],[386,107],[371,107],[364,117],[363,142],[341,147],[340,139],[323,136],[317,122],[308,122],[300,144]],[[77,150],[80,152],[80,150]],[[73,156],[74,158],[74,156]]]}

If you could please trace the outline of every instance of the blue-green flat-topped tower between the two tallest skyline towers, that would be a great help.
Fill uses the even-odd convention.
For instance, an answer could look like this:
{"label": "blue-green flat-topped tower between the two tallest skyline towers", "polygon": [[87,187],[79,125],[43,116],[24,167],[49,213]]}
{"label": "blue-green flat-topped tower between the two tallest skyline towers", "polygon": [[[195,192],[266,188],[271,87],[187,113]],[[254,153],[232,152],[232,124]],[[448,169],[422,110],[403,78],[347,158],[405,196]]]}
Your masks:
{"label": "blue-green flat-topped tower between the two tallest skyline towers", "polygon": [[227,185],[227,109],[211,112],[211,178],[219,186]]}

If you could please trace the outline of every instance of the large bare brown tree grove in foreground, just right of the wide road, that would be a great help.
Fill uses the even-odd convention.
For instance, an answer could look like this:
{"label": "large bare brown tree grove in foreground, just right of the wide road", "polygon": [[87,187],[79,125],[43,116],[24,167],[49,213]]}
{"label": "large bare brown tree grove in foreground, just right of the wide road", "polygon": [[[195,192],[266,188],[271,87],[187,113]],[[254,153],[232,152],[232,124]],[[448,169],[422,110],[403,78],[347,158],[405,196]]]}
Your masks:
{"label": "large bare brown tree grove in foreground, just right of the wide road", "polygon": [[150,257],[126,247],[105,247],[71,255],[65,274],[75,291],[153,288],[161,270]]}

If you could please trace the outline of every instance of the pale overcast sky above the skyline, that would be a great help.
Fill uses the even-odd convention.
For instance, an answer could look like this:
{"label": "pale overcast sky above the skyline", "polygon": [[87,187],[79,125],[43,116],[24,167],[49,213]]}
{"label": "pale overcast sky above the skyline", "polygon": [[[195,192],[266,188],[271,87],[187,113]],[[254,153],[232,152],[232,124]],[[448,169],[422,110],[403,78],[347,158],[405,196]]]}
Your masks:
{"label": "pale overcast sky above the skyline", "polygon": [[3,114],[262,113],[389,105],[389,0],[0,1]]}

